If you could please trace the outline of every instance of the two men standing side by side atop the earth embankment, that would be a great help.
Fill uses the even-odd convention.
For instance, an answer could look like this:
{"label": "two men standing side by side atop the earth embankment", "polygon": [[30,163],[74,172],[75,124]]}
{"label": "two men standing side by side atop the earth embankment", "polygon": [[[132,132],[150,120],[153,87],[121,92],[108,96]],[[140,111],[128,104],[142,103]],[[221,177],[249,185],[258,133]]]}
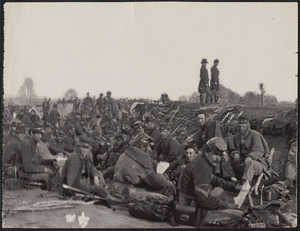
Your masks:
{"label": "two men standing side by side atop the earth embankment", "polygon": [[202,59],[200,68],[200,82],[198,92],[200,93],[200,104],[219,103],[219,60],[214,60],[214,65],[211,67],[211,79],[209,84],[208,70],[206,69],[207,59]]}

